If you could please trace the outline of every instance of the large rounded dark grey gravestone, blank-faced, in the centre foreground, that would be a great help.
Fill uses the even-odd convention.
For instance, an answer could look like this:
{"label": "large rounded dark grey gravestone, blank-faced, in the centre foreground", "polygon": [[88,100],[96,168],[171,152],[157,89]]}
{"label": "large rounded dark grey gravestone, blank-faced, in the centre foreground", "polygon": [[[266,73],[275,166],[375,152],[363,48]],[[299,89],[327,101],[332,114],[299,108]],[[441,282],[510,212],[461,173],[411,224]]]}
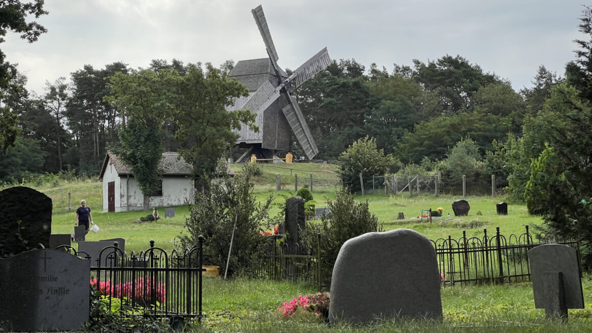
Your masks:
{"label": "large rounded dark grey gravestone, blank-faced, in the centre foreground", "polygon": [[329,322],[442,319],[436,250],[419,232],[369,232],[343,244],[333,268]]}

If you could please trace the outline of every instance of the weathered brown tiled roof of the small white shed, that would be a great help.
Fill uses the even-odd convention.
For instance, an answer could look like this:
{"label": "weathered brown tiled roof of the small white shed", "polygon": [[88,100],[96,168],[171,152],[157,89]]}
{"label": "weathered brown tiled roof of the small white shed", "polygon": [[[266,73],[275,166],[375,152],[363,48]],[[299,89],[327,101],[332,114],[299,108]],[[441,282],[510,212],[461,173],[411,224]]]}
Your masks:
{"label": "weathered brown tiled roof of the small white shed", "polygon": [[[110,151],[107,152],[107,156],[105,156],[105,161],[101,168],[101,173],[99,174],[99,180],[102,179],[102,176],[107,168],[107,161],[110,164],[113,164],[115,167],[115,171],[119,176],[125,176],[130,174],[133,176],[133,172],[131,171],[131,167],[128,167],[126,164],[121,161],[117,155],[111,153]],[[189,176],[191,175],[191,164],[187,163],[182,157],[179,157],[179,154],[174,151],[166,151],[162,153],[162,159],[159,162],[159,169],[163,171],[162,175],[168,176]],[[234,176],[234,171],[230,169],[230,166],[226,166],[226,172],[230,174],[230,176]]]}

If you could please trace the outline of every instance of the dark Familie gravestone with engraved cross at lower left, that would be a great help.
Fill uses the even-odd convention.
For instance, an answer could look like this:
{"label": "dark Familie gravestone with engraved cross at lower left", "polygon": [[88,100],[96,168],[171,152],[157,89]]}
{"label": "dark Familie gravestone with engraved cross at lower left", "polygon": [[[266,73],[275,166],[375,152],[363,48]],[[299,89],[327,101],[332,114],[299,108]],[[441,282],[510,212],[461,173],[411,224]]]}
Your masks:
{"label": "dark Familie gravestone with engraved cross at lower left", "polygon": [[60,250],[0,259],[0,321],[18,332],[83,329],[89,320],[90,269],[88,260]]}

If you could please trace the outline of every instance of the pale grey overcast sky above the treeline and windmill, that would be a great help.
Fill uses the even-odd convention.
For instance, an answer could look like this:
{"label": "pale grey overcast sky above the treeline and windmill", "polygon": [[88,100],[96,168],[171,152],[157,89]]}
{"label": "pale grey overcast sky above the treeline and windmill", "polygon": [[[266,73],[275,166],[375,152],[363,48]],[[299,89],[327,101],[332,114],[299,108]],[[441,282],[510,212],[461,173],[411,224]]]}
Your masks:
{"label": "pale grey overcast sky above the treeline and windmill", "polygon": [[457,54],[485,72],[530,88],[540,65],[563,75],[574,60],[582,2],[573,0],[46,0],[33,44],[8,33],[0,48],[44,92],[46,80],[82,69],[152,59],[184,63],[266,57],[250,9],[263,5],[279,66],[295,69],[323,47],[392,72]]}

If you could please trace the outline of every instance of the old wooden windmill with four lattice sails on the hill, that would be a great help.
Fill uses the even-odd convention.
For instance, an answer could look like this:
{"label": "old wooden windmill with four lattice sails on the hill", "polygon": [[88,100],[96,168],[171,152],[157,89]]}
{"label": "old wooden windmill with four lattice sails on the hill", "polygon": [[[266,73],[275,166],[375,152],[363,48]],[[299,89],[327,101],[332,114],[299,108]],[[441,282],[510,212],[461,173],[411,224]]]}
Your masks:
{"label": "old wooden windmill with four lattice sails on the hill", "polygon": [[268,58],[241,60],[229,73],[230,77],[247,86],[249,96],[238,98],[228,109],[249,109],[255,112],[255,123],[259,125],[259,132],[254,132],[246,126],[237,131],[240,138],[236,143],[239,147],[249,148],[237,162],[242,163],[250,159],[251,154],[255,154],[258,159],[271,159],[274,157],[274,150],[288,150],[291,132],[294,132],[308,159],[313,159],[318,153],[318,148],[304,115],[292,96],[292,88],[302,85],[329,66],[331,58],[327,48],[315,54],[288,76],[278,66],[278,53],[271,39],[263,8],[259,5],[251,12],[263,37]]}

